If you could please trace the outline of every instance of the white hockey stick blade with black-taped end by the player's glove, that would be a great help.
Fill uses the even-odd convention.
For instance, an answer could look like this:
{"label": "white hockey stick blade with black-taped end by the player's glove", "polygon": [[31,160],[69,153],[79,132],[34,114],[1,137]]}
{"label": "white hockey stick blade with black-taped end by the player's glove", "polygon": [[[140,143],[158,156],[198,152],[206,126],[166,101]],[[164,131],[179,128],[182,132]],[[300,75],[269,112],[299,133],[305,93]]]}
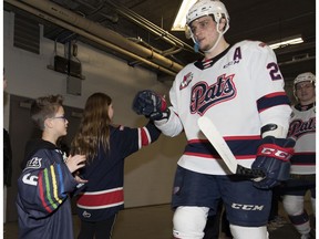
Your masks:
{"label": "white hockey stick blade with black-taped end by the player's glove", "polygon": [[202,116],[198,118],[197,123],[203,134],[207,137],[233,174],[248,177],[265,177],[265,174],[261,170],[253,170],[238,165],[233,152],[209,118]]}

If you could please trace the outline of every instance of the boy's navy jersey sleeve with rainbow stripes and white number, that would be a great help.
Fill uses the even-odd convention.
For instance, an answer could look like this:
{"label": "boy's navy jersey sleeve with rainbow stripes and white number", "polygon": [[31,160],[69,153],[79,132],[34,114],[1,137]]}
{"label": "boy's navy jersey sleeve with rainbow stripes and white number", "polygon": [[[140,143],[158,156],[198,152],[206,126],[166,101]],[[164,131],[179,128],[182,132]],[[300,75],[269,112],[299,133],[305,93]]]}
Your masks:
{"label": "boy's navy jersey sleeve with rainbow stripes and white number", "polygon": [[48,158],[52,157],[51,153],[39,150],[18,179],[18,206],[33,218],[54,212],[76,186],[74,177],[60,158]]}

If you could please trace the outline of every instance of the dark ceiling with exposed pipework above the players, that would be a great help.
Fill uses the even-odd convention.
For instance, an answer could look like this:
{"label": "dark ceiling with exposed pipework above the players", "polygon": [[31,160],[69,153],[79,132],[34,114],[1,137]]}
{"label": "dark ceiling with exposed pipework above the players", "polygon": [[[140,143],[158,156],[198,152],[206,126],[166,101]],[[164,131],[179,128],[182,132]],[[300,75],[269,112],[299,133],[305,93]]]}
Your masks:
{"label": "dark ceiling with exposed pipework above the players", "polygon": [[[4,10],[21,13],[20,8],[14,6],[16,2],[25,3],[34,9],[39,8],[33,3],[37,1],[32,0],[4,0]],[[132,66],[141,65],[151,69],[157,72],[160,76],[174,76],[179,67],[202,58],[202,55],[193,52],[193,42],[185,38],[184,32],[171,31],[181,0],[41,0],[39,2],[56,4],[68,12],[73,12],[99,24],[99,27],[105,28],[105,31],[106,29],[110,30],[111,33],[109,32],[107,35],[115,32],[121,38],[138,44],[138,48],[145,48],[146,52],[143,52],[142,56],[136,52],[134,54],[140,54],[147,61],[153,56],[153,53],[158,56],[155,58],[155,66],[152,65],[154,62],[147,64],[138,58],[119,52],[110,45],[103,45],[94,39],[50,22],[48,21],[49,18],[43,20],[38,14],[35,19],[44,24],[44,37],[54,41],[62,43],[70,40],[86,42],[124,59]],[[223,2],[230,15],[230,29],[225,37],[230,44],[245,39],[270,43],[300,34],[305,43],[275,51],[281,72],[286,81],[291,81],[303,71],[316,73],[315,0],[224,0]],[[25,11],[23,10],[22,13]],[[34,14],[30,12],[25,15],[34,19]],[[99,37],[99,34],[96,35]],[[127,42],[124,41],[124,43]],[[125,45],[120,48],[125,49]],[[136,50],[140,51],[138,48]],[[150,52],[152,56],[148,58]],[[174,63],[173,67],[169,66],[171,61]],[[161,69],[164,65],[163,69],[168,69],[168,74],[167,71],[156,69],[156,65],[161,65]]]}

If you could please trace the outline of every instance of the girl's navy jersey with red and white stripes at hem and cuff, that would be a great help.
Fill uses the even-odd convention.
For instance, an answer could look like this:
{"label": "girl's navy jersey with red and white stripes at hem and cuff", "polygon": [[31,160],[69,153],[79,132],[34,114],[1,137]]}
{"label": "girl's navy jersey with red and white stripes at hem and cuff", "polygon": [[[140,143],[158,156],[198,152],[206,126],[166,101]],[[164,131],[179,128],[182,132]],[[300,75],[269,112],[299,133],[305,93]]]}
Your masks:
{"label": "girl's navy jersey with red and white stripes at hem and cuff", "polygon": [[110,127],[110,149],[100,147],[97,156],[81,169],[81,177],[89,180],[76,200],[82,220],[106,220],[123,209],[124,159],[156,141],[160,134],[152,122],[141,128]]}

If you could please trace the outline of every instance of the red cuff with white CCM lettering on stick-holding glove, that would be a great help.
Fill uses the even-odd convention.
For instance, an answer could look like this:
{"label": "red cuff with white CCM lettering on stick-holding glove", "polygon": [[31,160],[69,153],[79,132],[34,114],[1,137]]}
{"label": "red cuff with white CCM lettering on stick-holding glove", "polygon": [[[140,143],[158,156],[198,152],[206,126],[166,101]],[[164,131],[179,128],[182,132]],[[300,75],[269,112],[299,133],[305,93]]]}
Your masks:
{"label": "red cuff with white CCM lettering on stick-holding glove", "polygon": [[275,157],[280,160],[288,162],[294,154],[294,149],[278,147],[277,145],[261,145],[258,148],[257,156]]}

